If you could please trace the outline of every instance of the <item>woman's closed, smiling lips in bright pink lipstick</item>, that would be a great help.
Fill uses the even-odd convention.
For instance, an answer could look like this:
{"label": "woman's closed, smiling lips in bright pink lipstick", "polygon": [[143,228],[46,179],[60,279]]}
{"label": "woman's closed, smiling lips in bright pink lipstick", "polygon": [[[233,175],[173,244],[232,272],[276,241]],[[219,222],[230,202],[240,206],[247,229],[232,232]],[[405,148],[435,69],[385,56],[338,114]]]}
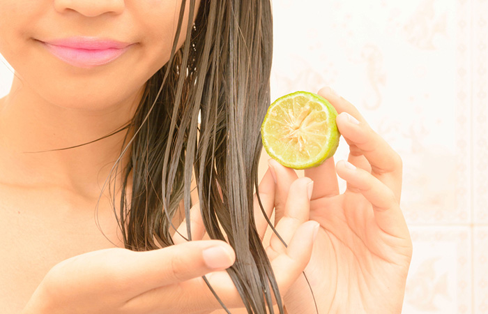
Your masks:
{"label": "woman's closed, smiling lips in bright pink lipstick", "polygon": [[114,61],[131,45],[93,37],[71,37],[42,43],[55,57],[79,68],[92,68]]}

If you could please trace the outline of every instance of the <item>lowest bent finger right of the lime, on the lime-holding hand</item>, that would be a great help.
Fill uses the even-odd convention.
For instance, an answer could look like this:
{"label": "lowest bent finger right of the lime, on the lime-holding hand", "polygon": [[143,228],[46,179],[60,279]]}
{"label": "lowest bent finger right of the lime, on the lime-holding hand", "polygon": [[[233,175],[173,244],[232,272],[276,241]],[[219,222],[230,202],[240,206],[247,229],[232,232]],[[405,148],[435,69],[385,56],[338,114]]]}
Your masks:
{"label": "lowest bent finger right of the lime, on the lime-holding hand", "polygon": [[351,190],[363,194],[372,204],[374,219],[381,230],[402,239],[409,237],[397,197],[388,186],[372,174],[344,160],[337,163],[337,174],[347,181]]}

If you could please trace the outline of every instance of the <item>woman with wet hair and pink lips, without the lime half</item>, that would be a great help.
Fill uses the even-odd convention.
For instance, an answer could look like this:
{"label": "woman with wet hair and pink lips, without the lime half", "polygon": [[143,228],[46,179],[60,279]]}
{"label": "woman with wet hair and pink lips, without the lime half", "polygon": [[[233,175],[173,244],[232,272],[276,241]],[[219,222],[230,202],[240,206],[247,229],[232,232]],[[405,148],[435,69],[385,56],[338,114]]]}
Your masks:
{"label": "woman with wet hair and pink lips, without the lime half", "polygon": [[346,100],[346,193],[330,158],[253,195],[270,3],[3,0],[0,30],[3,313],[401,311],[401,161]]}

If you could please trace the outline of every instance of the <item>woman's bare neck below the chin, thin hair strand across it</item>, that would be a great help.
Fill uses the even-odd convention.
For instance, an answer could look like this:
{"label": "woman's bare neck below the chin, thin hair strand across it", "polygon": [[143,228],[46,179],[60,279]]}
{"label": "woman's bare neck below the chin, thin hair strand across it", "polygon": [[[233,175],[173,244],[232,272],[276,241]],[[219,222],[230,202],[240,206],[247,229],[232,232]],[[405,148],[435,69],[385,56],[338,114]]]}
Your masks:
{"label": "woman's bare neck below the chin, thin hair strand across it", "polygon": [[142,90],[123,103],[72,109],[48,103],[15,78],[10,94],[0,99],[0,183],[99,195],[127,129],[86,143],[127,126],[141,97]]}

